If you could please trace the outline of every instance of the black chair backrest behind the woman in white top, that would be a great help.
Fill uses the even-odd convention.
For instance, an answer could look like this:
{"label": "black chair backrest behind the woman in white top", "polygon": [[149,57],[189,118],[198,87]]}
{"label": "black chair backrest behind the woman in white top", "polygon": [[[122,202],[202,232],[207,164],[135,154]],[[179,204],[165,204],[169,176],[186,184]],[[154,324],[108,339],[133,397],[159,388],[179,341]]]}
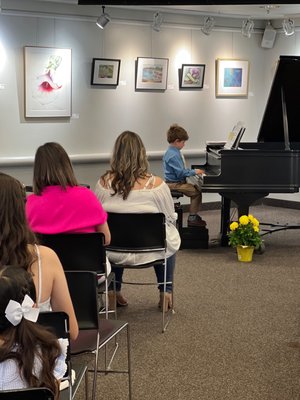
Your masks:
{"label": "black chair backrest behind the woman in white top", "polygon": [[144,252],[166,247],[163,213],[108,213],[111,242],[107,250]]}

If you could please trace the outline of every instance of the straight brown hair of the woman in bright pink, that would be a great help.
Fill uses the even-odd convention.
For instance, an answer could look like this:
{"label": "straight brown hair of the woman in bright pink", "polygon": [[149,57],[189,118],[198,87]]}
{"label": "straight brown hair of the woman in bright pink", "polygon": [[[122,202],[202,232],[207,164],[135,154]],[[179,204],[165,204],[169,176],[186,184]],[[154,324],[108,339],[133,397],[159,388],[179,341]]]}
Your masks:
{"label": "straight brown hair of the woman in bright pink", "polygon": [[33,191],[40,195],[46,186],[77,186],[71,160],[65,149],[54,142],[40,146],[34,159]]}

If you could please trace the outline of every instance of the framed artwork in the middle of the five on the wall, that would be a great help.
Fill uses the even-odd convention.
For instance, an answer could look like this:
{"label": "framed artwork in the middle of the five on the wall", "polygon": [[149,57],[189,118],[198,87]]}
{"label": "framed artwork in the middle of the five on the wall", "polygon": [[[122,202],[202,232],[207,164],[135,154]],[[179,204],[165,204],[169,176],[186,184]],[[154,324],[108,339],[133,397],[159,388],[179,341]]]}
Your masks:
{"label": "framed artwork in the middle of the five on the wall", "polygon": [[136,63],[136,90],[166,90],[168,58],[138,57]]}

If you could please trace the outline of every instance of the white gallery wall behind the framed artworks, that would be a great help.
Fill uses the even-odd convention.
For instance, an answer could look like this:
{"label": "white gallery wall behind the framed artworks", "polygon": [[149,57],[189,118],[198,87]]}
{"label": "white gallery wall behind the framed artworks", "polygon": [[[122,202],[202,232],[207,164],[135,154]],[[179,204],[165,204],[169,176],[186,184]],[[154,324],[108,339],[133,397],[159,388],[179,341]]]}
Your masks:
{"label": "white gallery wall behind the framed artworks", "polygon": [[[247,127],[243,140],[256,141],[279,55],[300,54],[299,33],[286,37],[279,31],[273,49],[264,49],[263,29],[245,38],[237,28],[241,21],[206,36],[195,18],[185,16],[182,23],[165,23],[155,32],[145,22],[146,13],[130,20],[130,13],[112,10],[118,18],[101,30],[90,15],[80,15],[82,8],[74,16],[57,14],[55,7],[38,13],[3,8],[0,13],[0,170],[25,184],[31,184],[36,148],[47,141],[65,147],[79,180],[92,187],[108,167],[116,137],[127,129],[141,135],[152,170],[159,175],[166,131],[174,122],[190,134],[185,147],[189,163],[201,162],[206,141],[224,140],[238,120]],[[24,46],[72,49],[71,118],[24,117]],[[135,91],[137,57],[169,59],[166,91]],[[116,88],[91,86],[93,58],[121,60]],[[249,60],[246,98],[216,98],[218,58]],[[203,89],[179,90],[178,68],[183,63],[205,64]],[[300,200],[297,194],[272,197]],[[204,201],[217,198],[204,194]]]}

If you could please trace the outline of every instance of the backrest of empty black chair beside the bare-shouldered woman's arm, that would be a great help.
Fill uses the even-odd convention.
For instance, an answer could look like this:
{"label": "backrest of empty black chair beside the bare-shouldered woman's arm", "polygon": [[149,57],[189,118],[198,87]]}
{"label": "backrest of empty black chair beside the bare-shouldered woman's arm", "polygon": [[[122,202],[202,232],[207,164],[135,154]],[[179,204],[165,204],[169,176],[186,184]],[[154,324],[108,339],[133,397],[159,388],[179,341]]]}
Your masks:
{"label": "backrest of empty black chair beside the bare-shouldered woman's arm", "polygon": [[65,271],[80,330],[97,329],[97,274],[92,271]]}

